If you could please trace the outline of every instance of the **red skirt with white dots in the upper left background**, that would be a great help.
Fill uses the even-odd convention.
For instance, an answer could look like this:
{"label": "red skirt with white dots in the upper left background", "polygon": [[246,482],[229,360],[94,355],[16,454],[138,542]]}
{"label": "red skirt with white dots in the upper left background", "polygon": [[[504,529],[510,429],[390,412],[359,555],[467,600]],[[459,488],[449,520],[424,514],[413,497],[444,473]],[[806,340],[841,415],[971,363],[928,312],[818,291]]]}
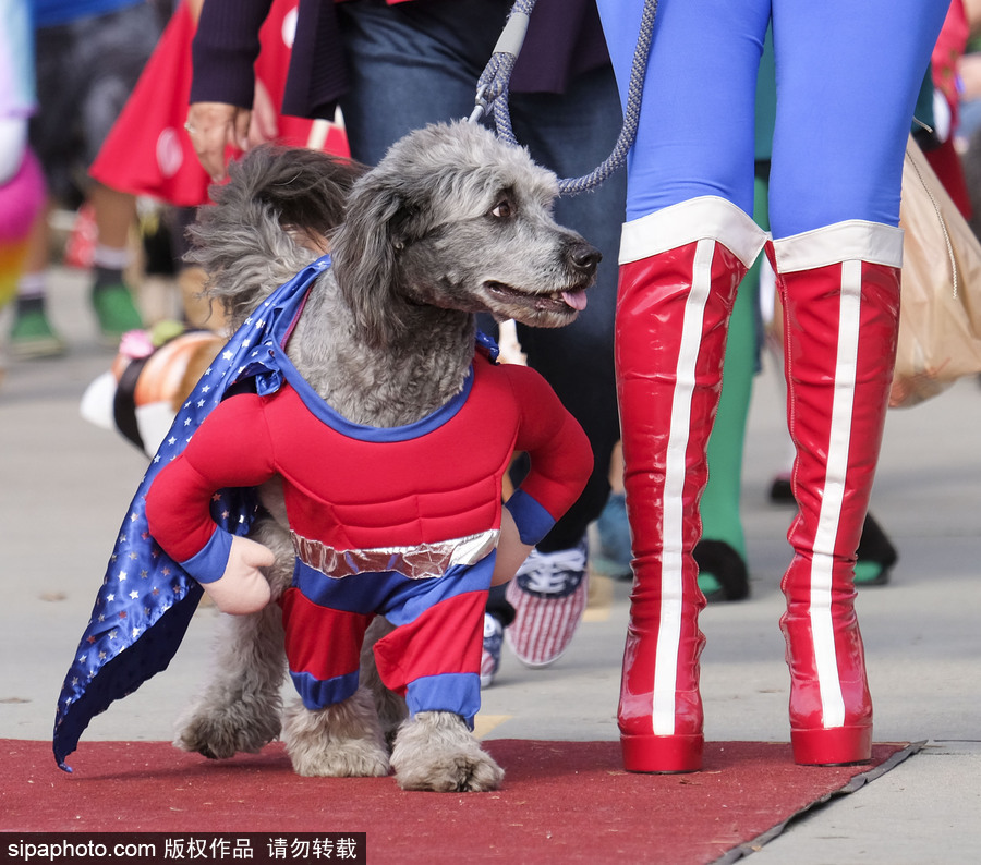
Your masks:
{"label": "red skirt with white dots in the upper left background", "polygon": [[[259,33],[262,50],[255,64],[256,80],[268,92],[277,111],[282,105],[296,5],[298,0],[275,0]],[[182,2],[89,169],[99,183],[178,207],[208,203],[210,179],[184,130],[194,31],[194,19]],[[350,155],[343,129],[323,120],[280,114],[276,141]],[[240,150],[229,148],[230,159],[239,156]]]}

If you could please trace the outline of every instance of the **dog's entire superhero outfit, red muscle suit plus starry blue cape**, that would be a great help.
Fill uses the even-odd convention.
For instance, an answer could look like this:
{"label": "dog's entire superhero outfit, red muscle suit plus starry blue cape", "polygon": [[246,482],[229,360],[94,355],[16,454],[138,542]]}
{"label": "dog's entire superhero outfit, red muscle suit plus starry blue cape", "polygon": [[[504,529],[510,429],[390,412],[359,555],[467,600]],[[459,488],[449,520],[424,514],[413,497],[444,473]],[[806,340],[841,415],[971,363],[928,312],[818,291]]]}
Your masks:
{"label": "dog's entire superhero outfit, red muscle suit plus starry blue cape", "polygon": [[[525,450],[532,460],[507,507],[522,540],[534,544],[579,495],[589,444],[538,374],[496,366],[480,351],[463,391],[421,422],[377,429],[346,421],[282,351],[310,284],[327,266],[328,257],[319,259],[265,303],[219,356],[227,375],[209,370],[174,421],[131,505],[65,680],[55,735],[62,766],[93,715],[166,667],[190,618],[178,601],[196,601],[196,581],[221,576],[231,534],[243,534],[255,511],[247,496],[232,507],[227,490],[252,490],[275,475],[296,551],[281,600],[287,654],[305,705],[353,693],[364,631],[382,613],[396,625],[376,645],[386,684],[405,694],[413,712],[448,710],[472,722],[511,453]],[[216,375],[218,388],[209,385]],[[223,401],[215,392],[249,377],[255,392]],[[210,411],[196,418],[195,409]],[[142,570],[121,564],[133,561],[133,546]],[[136,597],[118,610],[120,587],[133,584]],[[166,601],[157,599],[161,592]],[[145,649],[137,671],[134,649],[144,641],[162,641],[164,648]],[[110,663],[114,686],[96,678]]]}

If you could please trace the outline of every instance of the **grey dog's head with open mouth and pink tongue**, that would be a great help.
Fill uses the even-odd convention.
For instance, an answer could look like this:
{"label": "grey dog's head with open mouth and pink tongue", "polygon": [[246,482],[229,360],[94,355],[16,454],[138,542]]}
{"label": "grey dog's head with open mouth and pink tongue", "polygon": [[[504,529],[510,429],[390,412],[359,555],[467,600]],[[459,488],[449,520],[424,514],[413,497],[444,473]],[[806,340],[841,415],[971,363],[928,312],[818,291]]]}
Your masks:
{"label": "grey dog's head with open mouth and pink tongue", "polygon": [[557,194],[552,172],[488,130],[411,133],[354,186],[335,239],[338,282],[362,305],[377,306],[371,295],[387,280],[408,304],[567,325],[585,307],[600,253],[556,223]]}

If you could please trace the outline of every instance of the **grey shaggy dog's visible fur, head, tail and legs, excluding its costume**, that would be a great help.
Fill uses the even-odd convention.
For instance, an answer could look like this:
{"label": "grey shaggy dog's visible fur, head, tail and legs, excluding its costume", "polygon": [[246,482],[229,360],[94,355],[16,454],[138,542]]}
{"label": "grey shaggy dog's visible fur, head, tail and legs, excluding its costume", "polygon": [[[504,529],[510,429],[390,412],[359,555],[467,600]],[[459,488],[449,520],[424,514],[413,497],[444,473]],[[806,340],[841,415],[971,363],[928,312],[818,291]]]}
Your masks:
{"label": "grey shaggy dog's visible fur, head, tail and legs, excluding its costume", "polygon": [[[464,392],[475,313],[560,327],[585,306],[600,254],[554,221],[557,180],[526,151],[474,124],[439,124],[411,133],[355,179],[360,171],[313,151],[258,148],[233,166],[216,206],[191,229],[190,257],[210,275],[208,292],[232,328],[329,246],[332,266],[317,277],[286,351],[346,422],[407,427]],[[570,472],[584,483],[589,466],[578,463]],[[499,504],[499,486],[497,496]],[[281,484],[265,483],[261,498],[269,515],[250,537],[275,553],[265,574],[278,599],[299,550]],[[298,703],[283,724],[279,606],[226,617],[210,678],[175,744],[223,758],[282,731],[301,775],[393,767],[403,789],[497,788],[501,769],[459,715],[408,718],[404,700],[383,686],[371,647],[390,631],[382,617],[372,622],[353,696],[316,710]]]}

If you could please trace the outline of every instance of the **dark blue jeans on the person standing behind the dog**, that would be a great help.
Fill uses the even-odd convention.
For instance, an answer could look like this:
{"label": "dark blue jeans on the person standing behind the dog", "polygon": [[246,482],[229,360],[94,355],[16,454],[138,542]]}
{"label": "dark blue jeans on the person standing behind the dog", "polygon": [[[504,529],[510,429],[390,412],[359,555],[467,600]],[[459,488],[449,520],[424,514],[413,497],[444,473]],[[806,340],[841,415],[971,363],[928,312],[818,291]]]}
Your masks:
{"label": "dark blue jeans on the person standing behind the dog", "polygon": [[[339,3],[351,80],[341,109],[352,156],[374,165],[411,130],[468,117],[510,8],[510,0]],[[561,178],[600,165],[622,122],[609,65],[578,76],[565,94],[512,93],[510,109],[519,142]],[[538,545],[544,552],[577,546],[609,492],[609,456],[619,438],[613,325],[625,202],[620,171],[595,192],[556,203],[556,219],[603,253],[597,284],[589,292],[588,308],[569,327],[519,328],[529,365],[552,385],[593,447],[593,475],[579,501]]]}

